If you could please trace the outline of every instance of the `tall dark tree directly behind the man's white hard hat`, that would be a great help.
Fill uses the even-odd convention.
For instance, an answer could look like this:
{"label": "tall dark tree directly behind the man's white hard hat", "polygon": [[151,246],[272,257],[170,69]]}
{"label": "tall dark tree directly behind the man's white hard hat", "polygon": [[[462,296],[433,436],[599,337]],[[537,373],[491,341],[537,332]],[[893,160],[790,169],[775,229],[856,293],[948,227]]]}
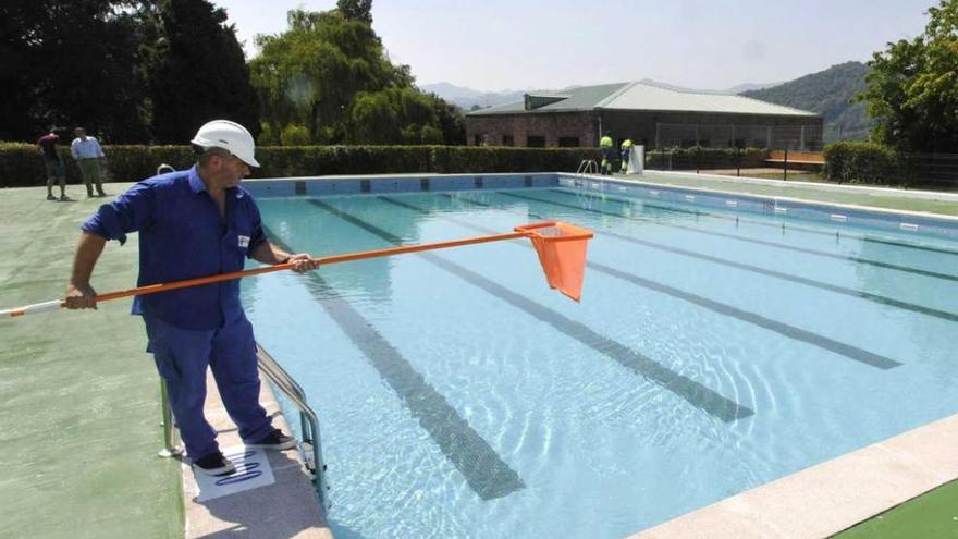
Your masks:
{"label": "tall dark tree directly behind the man's white hard hat", "polygon": [[235,28],[207,0],[160,0],[146,73],[157,142],[183,144],[209,120],[259,133],[259,102]]}

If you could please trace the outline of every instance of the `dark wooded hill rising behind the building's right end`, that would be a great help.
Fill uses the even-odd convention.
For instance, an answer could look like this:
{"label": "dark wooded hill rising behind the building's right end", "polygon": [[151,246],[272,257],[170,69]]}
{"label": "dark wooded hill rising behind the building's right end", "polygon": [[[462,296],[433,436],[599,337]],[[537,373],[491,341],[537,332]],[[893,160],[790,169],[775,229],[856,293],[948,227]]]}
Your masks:
{"label": "dark wooded hill rising behind the building's right end", "polygon": [[864,91],[868,65],[846,62],[771,88],[741,95],[821,114],[825,121],[825,142],[867,140],[872,127],[864,103],[852,102]]}

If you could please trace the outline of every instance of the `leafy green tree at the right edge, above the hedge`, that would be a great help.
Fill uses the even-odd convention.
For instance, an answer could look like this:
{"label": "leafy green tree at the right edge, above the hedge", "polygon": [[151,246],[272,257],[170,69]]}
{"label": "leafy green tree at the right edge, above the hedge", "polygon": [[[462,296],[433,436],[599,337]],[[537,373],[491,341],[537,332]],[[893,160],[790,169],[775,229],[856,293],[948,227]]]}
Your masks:
{"label": "leafy green tree at the right edge, above the hedge", "polygon": [[905,151],[955,151],[958,0],[942,0],[929,16],[923,35],[873,54],[861,99],[876,121],[876,140]]}

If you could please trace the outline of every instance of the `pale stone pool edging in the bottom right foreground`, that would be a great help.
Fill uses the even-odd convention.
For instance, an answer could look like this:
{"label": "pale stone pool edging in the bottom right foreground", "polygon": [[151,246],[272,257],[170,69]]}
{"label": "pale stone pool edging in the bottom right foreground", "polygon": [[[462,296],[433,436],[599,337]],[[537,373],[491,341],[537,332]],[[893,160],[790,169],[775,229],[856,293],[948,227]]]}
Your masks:
{"label": "pale stone pool edging in the bottom right foreground", "polygon": [[958,414],[627,537],[831,537],[958,479],[955,446]]}

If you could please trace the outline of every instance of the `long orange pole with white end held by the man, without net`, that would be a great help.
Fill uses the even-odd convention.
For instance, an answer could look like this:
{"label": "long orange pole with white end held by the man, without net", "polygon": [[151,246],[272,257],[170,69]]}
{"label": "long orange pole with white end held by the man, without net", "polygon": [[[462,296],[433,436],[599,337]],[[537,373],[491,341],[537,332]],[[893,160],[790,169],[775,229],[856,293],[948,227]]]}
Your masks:
{"label": "long orange pole with white end held by the man, without net", "polygon": [[[364,250],[361,253],[347,253],[345,255],[332,255],[327,257],[317,258],[320,266],[330,265],[330,264],[339,264],[339,262],[348,262],[352,260],[363,260],[366,258],[378,258],[383,256],[392,256],[392,255],[402,255],[404,253],[417,253],[420,250],[433,250],[433,249],[443,249],[449,247],[458,247],[462,245],[472,245],[477,243],[488,243],[488,242],[501,242],[503,240],[515,240],[517,237],[529,236],[530,232],[511,232],[506,234],[495,234],[490,236],[479,236],[479,237],[468,237],[465,240],[453,240],[449,242],[435,242],[435,243],[425,243],[420,245],[406,245],[403,247],[390,247],[385,249],[377,249],[377,250]],[[150,284],[147,286],[139,286],[136,289],[123,290],[118,292],[110,292],[107,294],[100,294],[96,297],[97,302],[108,302],[110,299],[119,299],[121,297],[130,297],[130,296],[144,296],[147,294],[156,294],[159,292],[168,292],[171,290],[177,289],[186,289],[189,286],[200,286],[204,284],[218,283],[222,281],[231,281],[234,279],[242,279],[244,277],[259,275],[262,273],[272,273],[274,271],[283,271],[287,269],[292,269],[295,266],[294,262],[286,264],[278,264],[274,266],[267,266],[263,268],[256,268],[244,271],[233,271],[231,273],[220,273],[217,275],[209,277],[200,277],[196,279],[185,279],[183,281],[173,281],[169,283],[159,283],[159,284]],[[17,307],[13,309],[0,310],[0,318],[3,317],[19,317],[34,313],[45,313],[50,310],[58,310],[61,307],[64,307],[66,302],[63,299],[54,299],[52,302],[38,303],[33,305],[25,305],[23,307]]]}

